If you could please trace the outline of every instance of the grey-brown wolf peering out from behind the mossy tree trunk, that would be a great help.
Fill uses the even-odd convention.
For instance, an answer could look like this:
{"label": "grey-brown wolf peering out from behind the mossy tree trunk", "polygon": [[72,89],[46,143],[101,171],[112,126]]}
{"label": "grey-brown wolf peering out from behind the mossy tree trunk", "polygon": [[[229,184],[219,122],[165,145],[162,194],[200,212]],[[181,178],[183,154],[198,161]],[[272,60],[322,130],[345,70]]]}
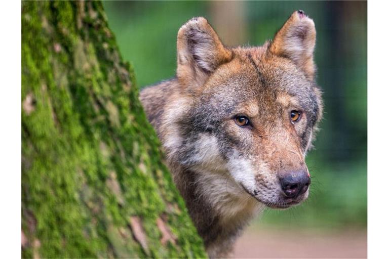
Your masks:
{"label": "grey-brown wolf peering out from behind the mossy tree trunk", "polygon": [[227,48],[203,17],[178,31],[177,71],[140,92],[210,257],[232,255],[264,207],[308,197],[304,157],[322,117],[316,29],[295,11],[260,47]]}

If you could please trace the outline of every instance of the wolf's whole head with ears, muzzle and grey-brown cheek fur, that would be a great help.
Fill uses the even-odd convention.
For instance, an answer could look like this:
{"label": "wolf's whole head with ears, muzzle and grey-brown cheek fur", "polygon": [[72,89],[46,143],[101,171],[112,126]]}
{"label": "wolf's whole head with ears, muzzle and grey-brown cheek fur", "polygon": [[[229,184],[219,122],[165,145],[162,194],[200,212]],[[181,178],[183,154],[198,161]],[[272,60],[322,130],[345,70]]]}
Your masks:
{"label": "wolf's whole head with ears, muzzle and grey-brown cheek fur", "polygon": [[256,48],[224,47],[205,18],[184,24],[179,94],[164,120],[171,129],[163,134],[168,158],[204,181],[219,179],[224,186],[214,190],[275,208],[304,200],[310,183],[304,157],[322,114],[315,40],[315,24],[302,11]]}

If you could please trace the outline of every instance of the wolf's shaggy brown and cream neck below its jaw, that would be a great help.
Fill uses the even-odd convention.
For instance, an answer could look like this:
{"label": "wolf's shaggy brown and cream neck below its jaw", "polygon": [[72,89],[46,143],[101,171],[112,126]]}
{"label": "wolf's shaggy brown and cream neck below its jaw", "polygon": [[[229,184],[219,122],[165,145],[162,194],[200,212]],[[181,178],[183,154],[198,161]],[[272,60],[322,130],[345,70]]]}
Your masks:
{"label": "wolf's shaggy brown and cream neck below its jaw", "polygon": [[173,168],[177,168],[173,170],[175,183],[210,257],[230,251],[236,237],[260,210],[261,204],[231,181],[227,172]]}

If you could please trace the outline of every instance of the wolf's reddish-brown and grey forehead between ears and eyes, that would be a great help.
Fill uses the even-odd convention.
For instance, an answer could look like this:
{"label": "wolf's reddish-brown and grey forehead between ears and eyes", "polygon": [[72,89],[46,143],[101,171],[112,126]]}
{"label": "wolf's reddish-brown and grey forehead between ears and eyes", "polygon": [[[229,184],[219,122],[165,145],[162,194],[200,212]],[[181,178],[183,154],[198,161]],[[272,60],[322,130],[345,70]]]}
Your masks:
{"label": "wolf's reddish-brown and grey forehead between ears and eyes", "polygon": [[195,107],[201,111],[194,109],[193,113],[222,119],[234,112],[261,115],[262,107],[277,113],[292,107],[306,112],[310,124],[318,120],[320,97],[316,84],[292,62],[266,54],[266,46],[230,50],[234,58],[216,69],[200,88]]}

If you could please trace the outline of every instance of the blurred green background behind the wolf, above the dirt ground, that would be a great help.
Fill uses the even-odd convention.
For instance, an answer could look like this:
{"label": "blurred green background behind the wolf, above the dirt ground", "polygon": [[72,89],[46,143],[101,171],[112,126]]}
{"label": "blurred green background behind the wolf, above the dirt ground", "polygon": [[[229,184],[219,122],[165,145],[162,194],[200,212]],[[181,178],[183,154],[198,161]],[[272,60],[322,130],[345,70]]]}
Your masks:
{"label": "blurred green background behind the wolf, above the dirt ground", "polygon": [[227,46],[262,45],[294,10],[317,29],[318,84],[325,113],[307,156],[313,184],[293,209],[266,210],[255,223],[313,229],[367,226],[367,2],[104,2],[108,23],[138,87],[171,78],[176,35],[204,16]]}

